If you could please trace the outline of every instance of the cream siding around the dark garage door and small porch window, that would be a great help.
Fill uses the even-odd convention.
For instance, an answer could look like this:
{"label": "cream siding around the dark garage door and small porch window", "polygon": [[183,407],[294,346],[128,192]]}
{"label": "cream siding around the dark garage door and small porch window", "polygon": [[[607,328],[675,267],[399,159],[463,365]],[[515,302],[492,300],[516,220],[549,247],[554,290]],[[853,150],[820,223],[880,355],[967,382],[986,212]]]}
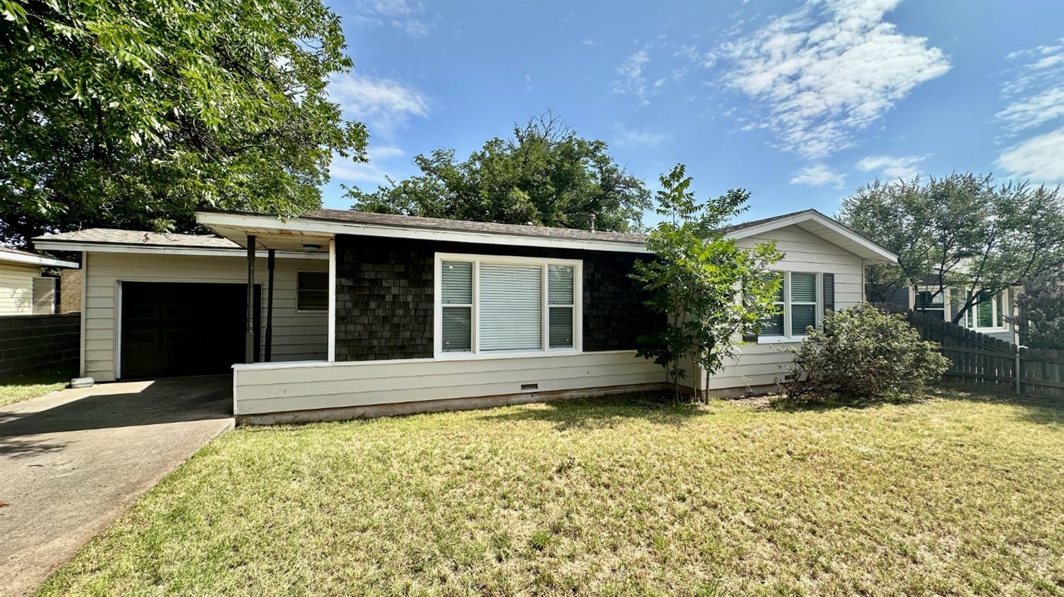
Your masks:
{"label": "cream siding around the dark garage door and small porch window", "polygon": [[[296,310],[296,272],[327,271],[329,262],[277,259],[273,272],[273,361],[326,358],[325,311]],[[93,252],[84,270],[85,332],[82,337],[83,375],[97,381],[116,378],[116,318],[120,281],[134,282],[247,282],[247,260],[239,256],[137,254]],[[255,261],[255,282],[262,284],[262,341],[266,339],[266,259]]]}

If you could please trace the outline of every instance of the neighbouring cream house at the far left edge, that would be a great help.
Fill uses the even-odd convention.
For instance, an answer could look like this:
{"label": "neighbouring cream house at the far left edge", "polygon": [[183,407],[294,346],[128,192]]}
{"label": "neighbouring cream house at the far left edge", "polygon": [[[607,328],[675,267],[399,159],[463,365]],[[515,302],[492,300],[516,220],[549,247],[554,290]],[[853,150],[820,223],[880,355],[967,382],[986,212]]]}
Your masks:
{"label": "neighbouring cream house at the far left edge", "polygon": [[43,267],[78,267],[77,263],[0,247],[0,315],[55,313],[55,278]]}

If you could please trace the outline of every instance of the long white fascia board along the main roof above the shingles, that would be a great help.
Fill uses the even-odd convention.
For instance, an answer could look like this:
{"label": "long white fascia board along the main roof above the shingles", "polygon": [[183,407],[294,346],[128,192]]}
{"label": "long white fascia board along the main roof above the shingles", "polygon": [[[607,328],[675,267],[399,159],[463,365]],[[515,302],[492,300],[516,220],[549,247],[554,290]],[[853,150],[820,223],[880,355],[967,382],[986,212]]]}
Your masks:
{"label": "long white fascia board along the main roof above the shingles", "polygon": [[[388,238],[420,238],[427,241],[443,241],[455,243],[475,243],[480,245],[505,245],[519,247],[556,247],[563,249],[584,249],[597,251],[619,251],[632,253],[649,253],[643,243],[625,243],[618,241],[584,241],[579,238],[554,238],[546,236],[527,236],[523,234],[504,234],[493,232],[472,232],[468,230],[435,230],[425,228],[405,228],[339,221],[319,221],[305,219],[289,219],[280,221],[270,216],[254,216],[244,214],[219,214],[214,212],[197,212],[196,221],[215,230],[218,228],[236,228],[276,231],[299,231],[316,234],[353,234],[360,236],[381,236]],[[220,232],[219,232],[220,233]],[[225,236],[225,234],[222,234]]]}

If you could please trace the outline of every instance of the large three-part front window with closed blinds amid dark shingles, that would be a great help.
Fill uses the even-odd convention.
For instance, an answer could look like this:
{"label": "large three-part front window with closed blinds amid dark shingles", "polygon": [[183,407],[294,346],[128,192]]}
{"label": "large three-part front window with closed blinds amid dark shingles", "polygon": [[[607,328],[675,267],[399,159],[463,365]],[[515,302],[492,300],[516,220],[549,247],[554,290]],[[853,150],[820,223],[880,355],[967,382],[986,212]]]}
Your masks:
{"label": "large three-part front window with closed blinds amid dark shingles", "polygon": [[578,347],[580,262],[440,254],[439,353],[549,352]]}

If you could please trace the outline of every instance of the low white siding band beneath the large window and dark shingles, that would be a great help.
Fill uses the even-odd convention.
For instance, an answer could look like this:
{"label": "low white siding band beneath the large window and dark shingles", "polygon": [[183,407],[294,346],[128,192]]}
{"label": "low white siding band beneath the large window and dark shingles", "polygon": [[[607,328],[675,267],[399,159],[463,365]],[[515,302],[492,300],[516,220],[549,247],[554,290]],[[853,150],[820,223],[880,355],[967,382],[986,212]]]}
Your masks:
{"label": "low white siding band beneath the large window and dark shingles", "polygon": [[[252,415],[664,381],[662,367],[626,350],[564,356],[237,365],[233,387],[235,413]],[[538,387],[521,389],[521,384],[531,383]]]}

